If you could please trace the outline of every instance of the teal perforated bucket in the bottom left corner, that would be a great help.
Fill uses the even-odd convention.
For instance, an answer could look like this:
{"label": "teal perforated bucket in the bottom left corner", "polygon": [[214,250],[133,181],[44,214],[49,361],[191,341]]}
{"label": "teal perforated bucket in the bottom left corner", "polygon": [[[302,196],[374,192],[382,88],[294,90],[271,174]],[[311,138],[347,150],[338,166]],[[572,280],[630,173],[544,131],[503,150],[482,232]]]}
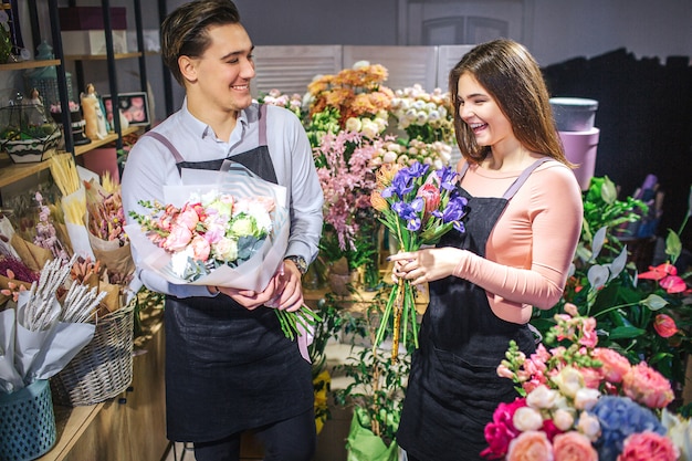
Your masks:
{"label": "teal perforated bucket in the bottom left corner", "polygon": [[0,394],[0,459],[34,460],[55,443],[55,415],[48,379]]}

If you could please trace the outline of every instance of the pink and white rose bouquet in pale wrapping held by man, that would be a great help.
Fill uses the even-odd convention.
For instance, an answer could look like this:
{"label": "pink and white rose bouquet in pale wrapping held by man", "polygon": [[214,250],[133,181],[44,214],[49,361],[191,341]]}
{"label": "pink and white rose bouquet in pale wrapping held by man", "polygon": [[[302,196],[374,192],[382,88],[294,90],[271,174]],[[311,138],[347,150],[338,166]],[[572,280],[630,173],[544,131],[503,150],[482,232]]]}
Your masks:
{"label": "pink and white rose bouquet in pale wrapping held by man", "polygon": [[[243,167],[219,171],[210,186],[191,184],[199,177],[186,172],[186,185],[164,188],[167,203],[139,201],[149,214],[129,212],[137,224],[126,230],[140,263],[170,283],[264,290],[283,270],[290,228],[283,188]],[[306,306],[275,312],[292,339],[319,319]]]}

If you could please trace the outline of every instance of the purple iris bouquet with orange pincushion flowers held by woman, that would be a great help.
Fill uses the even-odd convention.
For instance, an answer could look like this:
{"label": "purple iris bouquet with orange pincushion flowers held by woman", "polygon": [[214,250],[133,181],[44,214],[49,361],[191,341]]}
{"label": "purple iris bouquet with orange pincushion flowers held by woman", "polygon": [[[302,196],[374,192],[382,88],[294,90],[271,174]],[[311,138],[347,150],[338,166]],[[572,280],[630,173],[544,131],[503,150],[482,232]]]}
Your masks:
{"label": "purple iris bouquet with orange pincushion flowers held by woman", "polygon": [[[381,213],[380,221],[399,242],[401,251],[416,251],[436,244],[452,229],[464,232],[461,221],[466,199],[457,192],[459,175],[447,166],[432,170],[418,161],[409,167],[382,165],[370,202]],[[392,328],[391,359],[396,362],[399,343],[407,344],[408,333],[418,347],[416,293],[410,281],[396,281],[375,338],[377,347]]]}

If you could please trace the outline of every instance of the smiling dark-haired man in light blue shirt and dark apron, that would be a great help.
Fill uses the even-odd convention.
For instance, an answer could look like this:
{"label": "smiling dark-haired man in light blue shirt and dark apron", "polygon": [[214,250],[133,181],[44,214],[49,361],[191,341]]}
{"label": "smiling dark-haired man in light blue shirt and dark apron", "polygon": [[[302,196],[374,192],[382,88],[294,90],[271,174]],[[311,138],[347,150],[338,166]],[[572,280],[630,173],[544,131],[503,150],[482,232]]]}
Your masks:
{"label": "smiling dark-haired man in light blue shirt and dark apron", "polygon": [[230,0],[196,0],[166,18],[161,54],[186,98],[129,153],[123,203],[127,213],[146,213],[138,201],[165,203],[162,187],[181,184],[181,168],[218,171],[226,159],[286,187],[285,270],[264,291],[176,285],[147,270],[138,275],[167,294],[168,438],[193,442],[197,461],[230,461],[239,459],[241,432],[252,429],[265,460],[310,461],[316,440],[311,364],[265,304],[287,311],[303,304],[301,273],[317,254],[323,195],[297,117],[252,103],[252,50]]}

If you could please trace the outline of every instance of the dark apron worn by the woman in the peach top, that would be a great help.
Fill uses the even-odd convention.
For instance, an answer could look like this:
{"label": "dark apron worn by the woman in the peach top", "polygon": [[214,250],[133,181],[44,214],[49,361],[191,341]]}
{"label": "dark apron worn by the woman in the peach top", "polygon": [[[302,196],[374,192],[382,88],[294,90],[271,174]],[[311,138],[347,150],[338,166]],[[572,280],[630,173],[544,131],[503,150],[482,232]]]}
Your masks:
{"label": "dark apron worn by the woman in the peach top", "polygon": [[[532,171],[522,172],[501,198],[471,197],[465,232],[449,232],[438,247],[455,247],[485,255],[485,244],[507,202]],[[465,174],[465,164],[461,176]],[[420,347],[411,374],[397,433],[399,446],[422,461],[482,460],[487,447],[483,429],[501,401],[517,397],[514,383],[497,376],[510,339],[530,355],[535,350],[526,325],[493,314],[485,290],[457,276],[430,283],[430,304],[423,314]]]}

